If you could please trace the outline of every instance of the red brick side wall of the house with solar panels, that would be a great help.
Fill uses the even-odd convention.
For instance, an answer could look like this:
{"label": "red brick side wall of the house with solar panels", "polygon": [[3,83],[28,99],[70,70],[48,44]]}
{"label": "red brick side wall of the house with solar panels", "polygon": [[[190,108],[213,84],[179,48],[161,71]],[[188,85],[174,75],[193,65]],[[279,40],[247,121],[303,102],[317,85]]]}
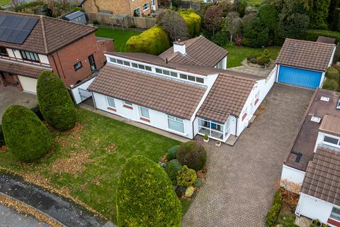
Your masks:
{"label": "red brick side wall of the house with solar panels", "polygon": [[[67,45],[57,52],[53,52],[48,56],[50,65],[55,74],[59,75],[64,84],[69,87],[76,84],[77,81],[86,79],[91,76],[91,67],[89,65],[89,56],[94,55],[97,69],[103,67],[106,57],[103,51],[113,51],[113,41],[106,40],[98,42],[94,33]],[[74,64],[81,61],[82,67],[74,70]]]}

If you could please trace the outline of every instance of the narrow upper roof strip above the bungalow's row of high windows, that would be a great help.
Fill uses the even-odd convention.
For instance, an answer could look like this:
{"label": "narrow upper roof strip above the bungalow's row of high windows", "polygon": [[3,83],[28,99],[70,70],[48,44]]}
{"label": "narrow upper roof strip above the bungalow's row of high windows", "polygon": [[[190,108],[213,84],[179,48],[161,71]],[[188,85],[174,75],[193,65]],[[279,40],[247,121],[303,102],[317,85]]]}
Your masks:
{"label": "narrow upper roof strip above the bungalow's row of high windows", "polygon": [[166,67],[173,70],[180,70],[184,72],[191,72],[193,74],[200,74],[202,76],[208,76],[209,74],[218,74],[225,72],[225,70],[217,69],[215,67],[204,67],[198,65],[186,65],[177,62],[166,63],[161,57],[157,55],[149,55],[144,52],[106,52],[108,55],[116,57],[124,57],[126,59],[135,60],[138,62],[144,62],[151,65],[158,65],[160,67]]}

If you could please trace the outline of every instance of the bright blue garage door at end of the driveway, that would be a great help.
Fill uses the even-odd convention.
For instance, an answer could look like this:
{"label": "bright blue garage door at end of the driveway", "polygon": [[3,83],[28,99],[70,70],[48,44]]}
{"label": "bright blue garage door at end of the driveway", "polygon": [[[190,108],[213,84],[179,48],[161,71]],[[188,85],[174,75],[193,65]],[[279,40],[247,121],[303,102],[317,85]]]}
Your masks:
{"label": "bright blue garage door at end of the driveway", "polygon": [[319,87],[321,77],[322,72],[300,70],[286,66],[280,66],[280,71],[278,72],[278,82],[280,83],[314,89]]}

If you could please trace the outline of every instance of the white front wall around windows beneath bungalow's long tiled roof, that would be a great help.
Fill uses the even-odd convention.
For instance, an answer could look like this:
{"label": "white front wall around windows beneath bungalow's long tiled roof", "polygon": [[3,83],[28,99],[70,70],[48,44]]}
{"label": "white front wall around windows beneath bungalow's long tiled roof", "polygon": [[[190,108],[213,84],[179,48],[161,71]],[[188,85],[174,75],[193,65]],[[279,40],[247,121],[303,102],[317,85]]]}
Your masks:
{"label": "white front wall around windows beneath bungalow's long tiled roof", "polygon": [[186,119],[183,120],[184,123],[184,133],[179,133],[176,131],[172,131],[168,128],[168,117],[166,114],[149,109],[149,119],[150,122],[140,120],[140,110],[137,104],[132,104],[133,109],[125,108],[123,105],[123,101],[120,99],[115,99],[115,109],[116,111],[112,111],[108,109],[108,101],[105,95],[98,94],[93,92],[92,96],[94,98],[94,102],[96,105],[96,109],[101,109],[102,111],[107,111],[111,114],[116,114],[118,116],[123,116],[124,118],[128,118],[131,121],[137,121],[140,123],[147,124],[149,126],[153,126],[155,128],[162,129],[164,131],[169,131],[171,133],[181,135],[186,138],[193,138],[193,124],[191,121]]}

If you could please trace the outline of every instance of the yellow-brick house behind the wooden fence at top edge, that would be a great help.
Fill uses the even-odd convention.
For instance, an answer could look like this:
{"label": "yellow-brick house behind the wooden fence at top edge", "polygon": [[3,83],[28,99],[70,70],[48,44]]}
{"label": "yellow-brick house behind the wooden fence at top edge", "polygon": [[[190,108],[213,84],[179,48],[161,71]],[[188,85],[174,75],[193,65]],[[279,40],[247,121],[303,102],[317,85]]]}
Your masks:
{"label": "yellow-brick house behind the wooden fence at top edge", "polygon": [[113,13],[128,16],[147,16],[157,10],[157,0],[83,0],[81,6],[87,13]]}

